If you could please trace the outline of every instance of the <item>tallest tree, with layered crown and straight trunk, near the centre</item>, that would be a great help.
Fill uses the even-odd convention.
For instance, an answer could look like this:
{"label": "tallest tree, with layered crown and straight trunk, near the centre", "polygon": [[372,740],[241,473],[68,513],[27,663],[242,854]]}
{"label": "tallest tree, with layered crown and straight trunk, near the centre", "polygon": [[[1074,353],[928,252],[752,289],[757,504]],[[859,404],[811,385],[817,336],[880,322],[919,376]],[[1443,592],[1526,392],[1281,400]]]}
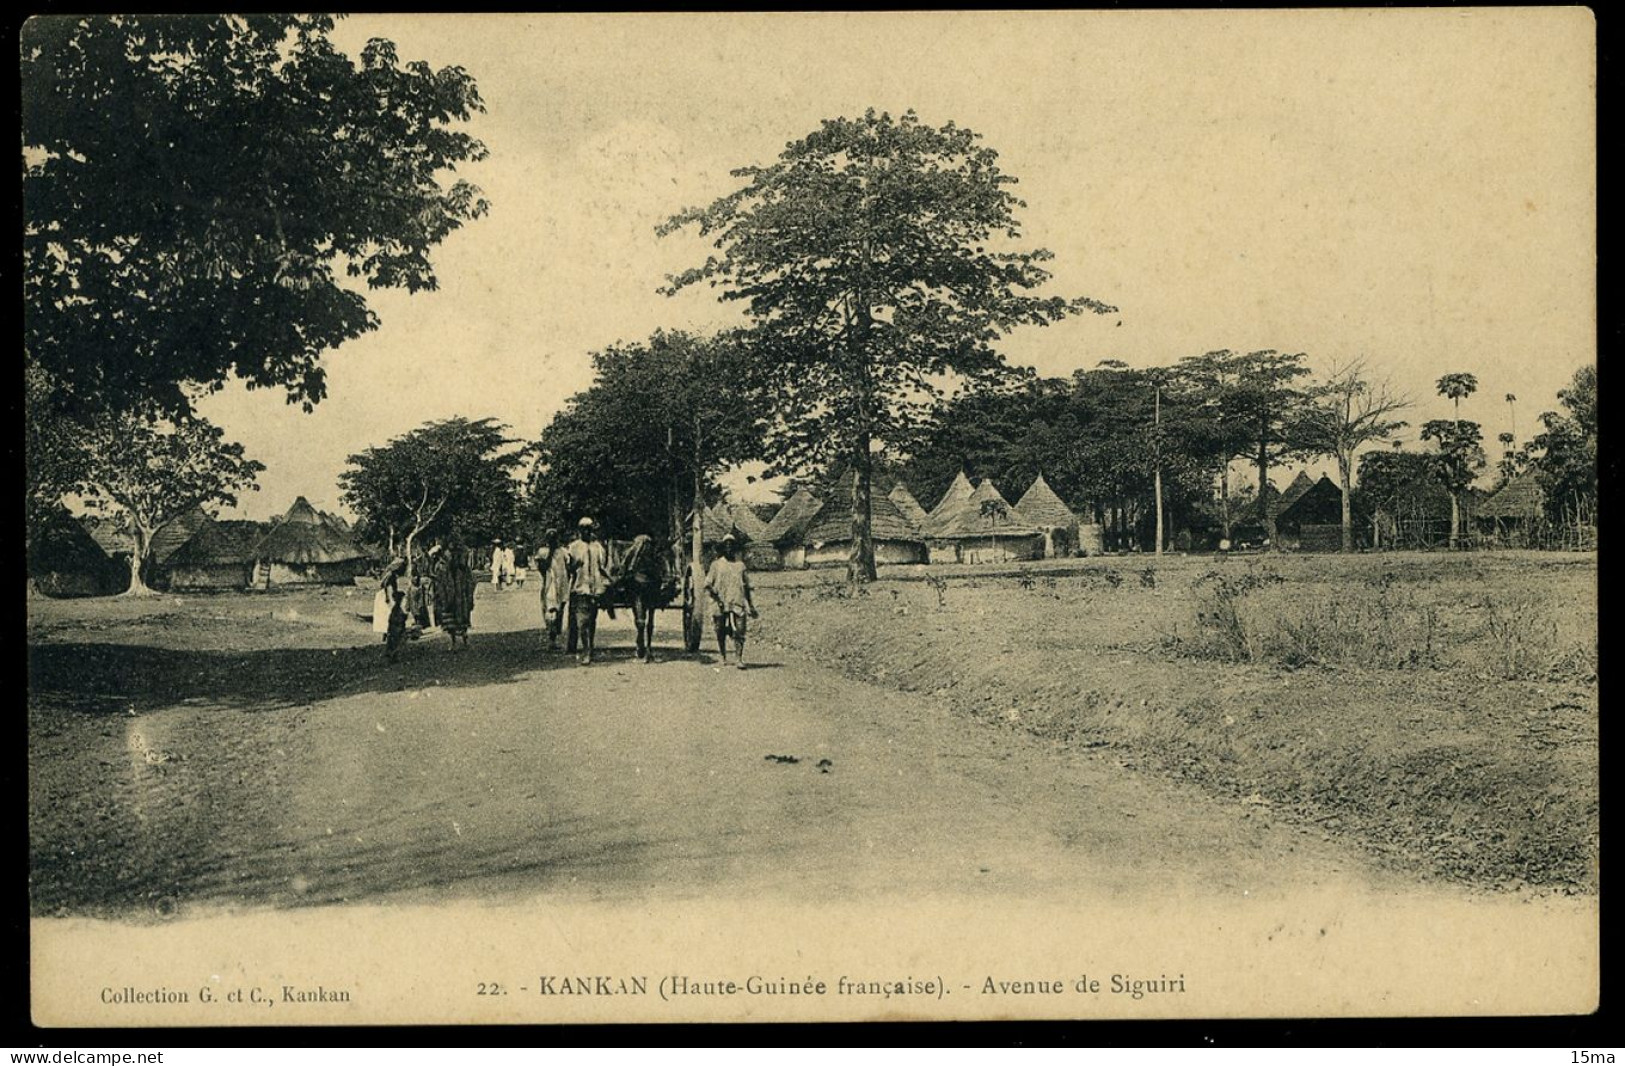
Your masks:
{"label": "tallest tree, with layered crown and straight trunk, near the centre", "polygon": [[1115,310],[1032,294],[1050,254],[1017,247],[1025,205],[980,140],[912,110],[830,119],[777,161],[734,171],[734,192],[661,226],[694,228],[718,250],[668,292],[710,283],[746,304],[774,406],[774,471],[852,471],[855,582],[874,578],[876,445],[907,444],[946,382],[998,375],[993,343],[1009,330]]}

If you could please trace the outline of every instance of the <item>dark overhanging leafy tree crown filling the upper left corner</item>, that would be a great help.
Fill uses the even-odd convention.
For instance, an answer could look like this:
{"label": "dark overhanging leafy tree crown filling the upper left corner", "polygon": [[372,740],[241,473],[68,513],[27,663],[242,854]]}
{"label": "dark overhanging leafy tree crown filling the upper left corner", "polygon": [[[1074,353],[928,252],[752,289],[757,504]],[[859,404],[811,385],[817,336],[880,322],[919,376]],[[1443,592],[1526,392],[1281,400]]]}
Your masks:
{"label": "dark overhanging leafy tree crown filling the upper left corner", "polygon": [[429,252],[484,213],[462,68],[359,65],[320,15],[72,16],[23,26],[23,346],[55,414],[185,384],[286,388],[377,328],[354,281],[436,286]]}

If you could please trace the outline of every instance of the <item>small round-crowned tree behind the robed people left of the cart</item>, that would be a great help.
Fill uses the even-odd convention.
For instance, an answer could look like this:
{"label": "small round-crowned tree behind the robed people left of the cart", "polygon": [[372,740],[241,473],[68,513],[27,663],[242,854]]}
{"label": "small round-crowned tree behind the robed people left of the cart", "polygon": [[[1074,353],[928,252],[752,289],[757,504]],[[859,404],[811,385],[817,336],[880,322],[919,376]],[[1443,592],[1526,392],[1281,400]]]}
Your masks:
{"label": "small round-crowned tree behind the robed people left of the cart", "polygon": [[369,535],[405,556],[408,577],[431,536],[479,544],[512,535],[517,442],[491,418],[429,422],[349,457],[340,499]]}

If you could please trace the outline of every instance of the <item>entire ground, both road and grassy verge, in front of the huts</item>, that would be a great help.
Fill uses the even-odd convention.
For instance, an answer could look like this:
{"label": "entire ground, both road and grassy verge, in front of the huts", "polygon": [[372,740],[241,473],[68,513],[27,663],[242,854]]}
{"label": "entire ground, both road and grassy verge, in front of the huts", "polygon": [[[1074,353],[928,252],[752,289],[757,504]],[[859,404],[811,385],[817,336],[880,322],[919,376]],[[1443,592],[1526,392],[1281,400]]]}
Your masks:
{"label": "entire ground, both road and grassy verge, in front of the huts", "polygon": [[[1461,562],[1404,566],[1453,601],[1485,577]],[[1596,580],[1469,562],[1568,601]],[[661,661],[622,616],[577,668],[533,588],[479,587],[471,647],[395,666],[361,590],[29,600],[32,908],[1594,889],[1594,674],[1495,679],[1461,619],[1404,670],[1198,656],[1176,629],[1211,566],[967,572],[942,606],[760,575],[746,671],[679,658],[674,613]],[[1294,590],[1328,561],[1277,566]]]}

